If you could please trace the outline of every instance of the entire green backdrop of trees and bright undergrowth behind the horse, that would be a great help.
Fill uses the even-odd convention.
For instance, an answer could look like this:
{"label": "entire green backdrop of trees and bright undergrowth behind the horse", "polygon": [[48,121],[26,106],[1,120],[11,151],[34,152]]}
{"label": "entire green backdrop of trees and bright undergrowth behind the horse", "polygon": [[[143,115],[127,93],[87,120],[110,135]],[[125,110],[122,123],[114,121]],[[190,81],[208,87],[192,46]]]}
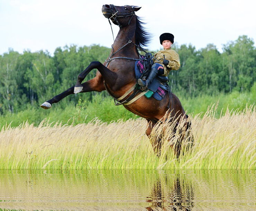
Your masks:
{"label": "entire green backdrop of trees and bright undergrowth behind the horse", "polygon": [[[169,74],[170,86],[189,112],[205,111],[219,101],[219,108],[244,108],[255,103],[256,48],[247,36],[223,45],[220,53],[214,44],[196,51],[189,45],[174,45],[181,68]],[[28,119],[38,124],[44,118],[52,121],[87,122],[95,117],[103,121],[136,118],[122,106],[114,106],[107,92],[72,94],[50,111],[39,104],[74,86],[77,76],[92,61],[104,62],[111,49],[99,45],[56,48],[22,54],[9,50],[0,55],[0,123],[18,125]],[[95,77],[92,70],[85,80]],[[231,94],[227,94],[231,93]],[[75,107],[75,105],[77,106]],[[196,106],[195,106],[196,105]],[[220,111],[218,111],[220,113]],[[87,117],[85,119],[85,117]]]}

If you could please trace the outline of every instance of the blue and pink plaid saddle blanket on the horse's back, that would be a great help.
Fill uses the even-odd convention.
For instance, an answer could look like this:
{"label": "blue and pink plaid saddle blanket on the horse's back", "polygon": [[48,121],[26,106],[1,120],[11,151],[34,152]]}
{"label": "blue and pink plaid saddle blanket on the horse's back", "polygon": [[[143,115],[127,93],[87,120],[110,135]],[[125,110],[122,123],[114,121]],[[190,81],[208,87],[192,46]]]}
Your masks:
{"label": "blue and pink plaid saddle blanket on the horse's back", "polygon": [[[143,65],[143,60],[138,60],[135,62],[135,75],[136,75],[136,79],[138,80],[142,73],[144,72],[144,65]],[[153,81],[154,83],[154,81]],[[153,97],[156,100],[162,100],[163,97],[165,96],[166,93],[168,93],[168,88],[169,86],[167,85],[161,85],[157,88],[156,92],[153,94]],[[147,96],[146,96],[147,97]]]}

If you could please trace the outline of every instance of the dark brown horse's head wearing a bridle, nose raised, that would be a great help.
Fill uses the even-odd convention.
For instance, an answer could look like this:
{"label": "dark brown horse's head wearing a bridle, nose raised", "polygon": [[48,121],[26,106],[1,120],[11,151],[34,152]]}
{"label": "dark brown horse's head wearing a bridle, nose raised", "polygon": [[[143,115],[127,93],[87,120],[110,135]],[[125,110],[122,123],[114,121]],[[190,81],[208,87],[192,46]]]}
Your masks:
{"label": "dark brown horse's head wearing a bridle, nose raised", "polygon": [[132,16],[141,7],[137,6],[115,6],[113,4],[104,4],[102,6],[102,13],[105,18],[110,19],[114,24],[119,27],[125,27],[129,25]]}

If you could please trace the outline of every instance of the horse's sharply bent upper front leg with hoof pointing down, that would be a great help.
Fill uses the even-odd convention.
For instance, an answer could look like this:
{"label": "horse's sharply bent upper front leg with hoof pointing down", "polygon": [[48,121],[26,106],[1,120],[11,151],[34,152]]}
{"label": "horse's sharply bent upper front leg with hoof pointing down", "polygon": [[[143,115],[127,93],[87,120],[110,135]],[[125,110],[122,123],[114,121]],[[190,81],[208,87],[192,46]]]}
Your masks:
{"label": "horse's sharply bent upper front leg with hoof pointing down", "polygon": [[82,81],[85,79],[85,77],[88,75],[88,73],[92,69],[98,69],[98,71],[101,73],[102,77],[104,78],[104,81],[109,84],[109,86],[113,86],[117,79],[117,74],[115,72],[112,72],[108,68],[106,68],[102,63],[98,61],[91,62],[89,66],[79,74],[75,87],[74,87],[74,93],[84,92]]}

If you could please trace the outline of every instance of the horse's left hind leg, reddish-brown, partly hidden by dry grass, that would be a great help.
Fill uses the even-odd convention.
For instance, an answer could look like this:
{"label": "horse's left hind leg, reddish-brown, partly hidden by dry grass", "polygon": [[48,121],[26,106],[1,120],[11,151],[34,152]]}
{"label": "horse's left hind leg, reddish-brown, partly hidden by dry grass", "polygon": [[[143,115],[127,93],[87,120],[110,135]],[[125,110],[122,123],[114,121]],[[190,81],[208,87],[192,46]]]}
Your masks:
{"label": "horse's left hind leg, reddish-brown, partly hidden by dry grass", "polygon": [[157,157],[160,157],[161,148],[162,148],[162,137],[155,137],[151,134],[157,122],[153,122],[151,120],[147,120],[147,121],[148,121],[148,128],[146,130],[146,135],[150,139],[150,143],[152,144],[153,150],[156,153]]}

